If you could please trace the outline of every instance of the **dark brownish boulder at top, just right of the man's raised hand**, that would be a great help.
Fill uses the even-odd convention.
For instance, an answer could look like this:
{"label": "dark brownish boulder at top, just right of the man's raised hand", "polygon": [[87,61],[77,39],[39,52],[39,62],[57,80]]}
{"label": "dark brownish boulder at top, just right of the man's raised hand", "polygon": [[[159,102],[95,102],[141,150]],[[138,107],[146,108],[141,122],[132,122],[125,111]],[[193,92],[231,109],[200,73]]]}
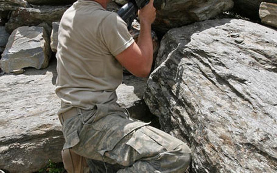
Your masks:
{"label": "dark brownish boulder at top, just right of the man's raised hand", "polygon": [[166,33],[171,28],[215,17],[233,7],[232,0],[158,0],[154,1],[156,20],[154,30]]}

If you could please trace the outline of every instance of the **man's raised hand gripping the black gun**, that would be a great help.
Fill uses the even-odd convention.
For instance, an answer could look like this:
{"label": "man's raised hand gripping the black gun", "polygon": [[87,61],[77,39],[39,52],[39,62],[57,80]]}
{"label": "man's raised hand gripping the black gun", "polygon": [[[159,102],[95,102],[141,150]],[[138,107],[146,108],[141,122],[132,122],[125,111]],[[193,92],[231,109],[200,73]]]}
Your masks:
{"label": "man's raised hand gripping the black gun", "polygon": [[146,22],[152,24],[156,19],[156,9],[153,6],[154,0],[150,0],[150,2],[138,10],[138,18],[141,22]]}

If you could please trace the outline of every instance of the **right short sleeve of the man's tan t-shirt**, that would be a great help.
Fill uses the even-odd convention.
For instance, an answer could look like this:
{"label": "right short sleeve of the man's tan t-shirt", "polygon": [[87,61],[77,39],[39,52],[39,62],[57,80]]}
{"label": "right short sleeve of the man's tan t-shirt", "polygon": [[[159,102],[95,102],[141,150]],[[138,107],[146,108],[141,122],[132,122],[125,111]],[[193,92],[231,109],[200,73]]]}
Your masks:
{"label": "right short sleeve of the man's tan t-shirt", "polygon": [[103,19],[99,30],[102,41],[113,56],[120,54],[135,41],[127,24],[114,12]]}

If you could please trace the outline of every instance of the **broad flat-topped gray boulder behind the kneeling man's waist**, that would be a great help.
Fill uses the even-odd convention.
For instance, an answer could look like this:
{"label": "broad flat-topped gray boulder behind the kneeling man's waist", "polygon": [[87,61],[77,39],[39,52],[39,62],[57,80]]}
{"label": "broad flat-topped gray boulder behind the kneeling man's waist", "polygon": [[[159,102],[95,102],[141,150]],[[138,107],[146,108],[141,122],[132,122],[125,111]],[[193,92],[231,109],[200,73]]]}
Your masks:
{"label": "broad flat-topped gray boulder behind the kneeling man's waist", "polygon": [[[31,173],[61,162],[64,138],[58,120],[60,99],[55,94],[57,77],[53,58],[46,69],[27,68],[24,74],[0,76],[0,170]],[[142,97],[146,79],[124,76],[117,88],[117,103],[132,117],[150,119]]]}

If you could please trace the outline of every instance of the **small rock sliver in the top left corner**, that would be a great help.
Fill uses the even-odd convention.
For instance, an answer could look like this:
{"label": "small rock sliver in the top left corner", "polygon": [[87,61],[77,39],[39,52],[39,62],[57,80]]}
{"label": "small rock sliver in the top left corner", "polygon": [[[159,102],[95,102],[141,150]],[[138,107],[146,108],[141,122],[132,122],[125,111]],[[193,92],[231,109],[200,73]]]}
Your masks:
{"label": "small rock sliver in the top left corner", "polygon": [[0,11],[16,10],[18,7],[30,7],[25,0],[0,0]]}

